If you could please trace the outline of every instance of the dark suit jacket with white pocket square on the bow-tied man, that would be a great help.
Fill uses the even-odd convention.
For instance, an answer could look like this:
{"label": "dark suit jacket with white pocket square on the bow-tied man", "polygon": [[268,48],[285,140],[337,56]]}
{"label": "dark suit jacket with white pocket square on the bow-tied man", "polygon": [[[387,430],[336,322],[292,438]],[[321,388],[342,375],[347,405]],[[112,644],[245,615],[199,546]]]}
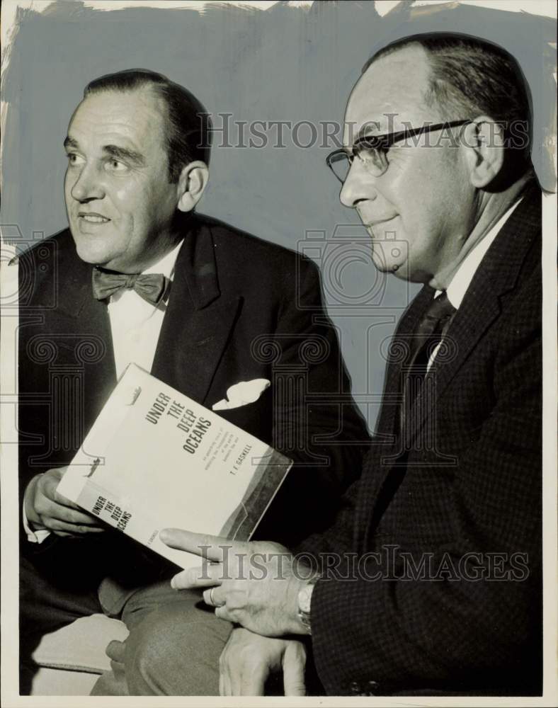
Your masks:
{"label": "dark suit jacket with white pocket square on the bow-tied man", "polygon": [[[213,219],[193,216],[183,228],[152,374],[209,408],[232,384],[271,381],[258,401],[220,415],[295,459],[258,535],[296,542],[331,523],[370,439],[322,309],[317,268]],[[69,231],[30,249],[19,265],[23,498],[33,475],[72,459],[115,385],[115,369],[106,302],[93,299],[91,265],[76,256]],[[103,536],[108,541],[24,540],[23,549],[36,561],[47,554],[47,568],[59,556],[64,569],[69,549],[83,558],[87,548],[88,570],[103,576],[110,556],[130,578],[132,542]]]}

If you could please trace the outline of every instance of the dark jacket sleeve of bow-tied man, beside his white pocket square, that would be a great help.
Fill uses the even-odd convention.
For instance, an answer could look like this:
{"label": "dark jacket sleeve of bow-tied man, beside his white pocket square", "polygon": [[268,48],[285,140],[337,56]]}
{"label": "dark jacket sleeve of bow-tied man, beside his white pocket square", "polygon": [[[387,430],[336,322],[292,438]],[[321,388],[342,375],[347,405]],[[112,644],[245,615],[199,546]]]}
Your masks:
{"label": "dark jacket sleeve of bow-tied man, beside his white pocket square", "polygon": [[297,260],[273,339],[273,447],[294,460],[283,486],[256,530],[293,547],[331,525],[341,496],[360,476],[370,440],[351,397],[336,329],[324,312],[319,273]]}

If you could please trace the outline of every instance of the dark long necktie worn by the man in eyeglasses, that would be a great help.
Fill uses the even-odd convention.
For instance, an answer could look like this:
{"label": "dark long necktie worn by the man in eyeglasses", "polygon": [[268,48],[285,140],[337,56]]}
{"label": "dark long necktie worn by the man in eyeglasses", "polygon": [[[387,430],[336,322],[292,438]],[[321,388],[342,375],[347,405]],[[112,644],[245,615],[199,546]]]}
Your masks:
{"label": "dark long necktie worn by the man in eyeglasses", "polygon": [[402,371],[403,401],[399,416],[400,430],[403,430],[405,420],[421,390],[428,360],[433,351],[442,341],[450,326],[452,316],[457,312],[448,300],[445,292],[435,297],[428,305],[426,312],[418,321],[418,325],[409,339],[409,355]]}

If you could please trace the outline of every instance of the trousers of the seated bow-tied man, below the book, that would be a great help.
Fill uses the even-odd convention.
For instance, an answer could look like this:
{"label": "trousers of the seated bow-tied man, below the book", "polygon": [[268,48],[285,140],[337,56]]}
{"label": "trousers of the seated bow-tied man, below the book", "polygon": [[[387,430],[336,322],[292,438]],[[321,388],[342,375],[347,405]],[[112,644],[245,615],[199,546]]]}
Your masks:
{"label": "trousers of the seated bow-tied man, below the book", "polygon": [[232,625],[215,617],[201,593],[178,592],[165,580],[135,590],[113,613],[103,603],[103,586],[97,593],[81,589],[79,580],[60,587],[21,561],[21,627],[33,628],[22,636],[22,695],[38,668],[30,655],[42,634],[96,612],[121,619],[130,636],[108,646],[113,670],[101,675],[93,695],[219,695],[219,657]]}

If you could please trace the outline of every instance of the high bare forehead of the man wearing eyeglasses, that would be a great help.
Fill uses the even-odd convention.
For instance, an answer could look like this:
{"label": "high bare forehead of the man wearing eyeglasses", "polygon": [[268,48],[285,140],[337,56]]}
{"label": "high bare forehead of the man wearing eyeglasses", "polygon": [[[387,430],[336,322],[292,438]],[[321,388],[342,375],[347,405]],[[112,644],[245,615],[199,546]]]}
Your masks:
{"label": "high bare forehead of the man wearing eyeglasses", "polygon": [[343,142],[354,142],[361,132],[382,134],[431,120],[424,105],[429,76],[428,56],[419,45],[373,62],[348,100]]}

